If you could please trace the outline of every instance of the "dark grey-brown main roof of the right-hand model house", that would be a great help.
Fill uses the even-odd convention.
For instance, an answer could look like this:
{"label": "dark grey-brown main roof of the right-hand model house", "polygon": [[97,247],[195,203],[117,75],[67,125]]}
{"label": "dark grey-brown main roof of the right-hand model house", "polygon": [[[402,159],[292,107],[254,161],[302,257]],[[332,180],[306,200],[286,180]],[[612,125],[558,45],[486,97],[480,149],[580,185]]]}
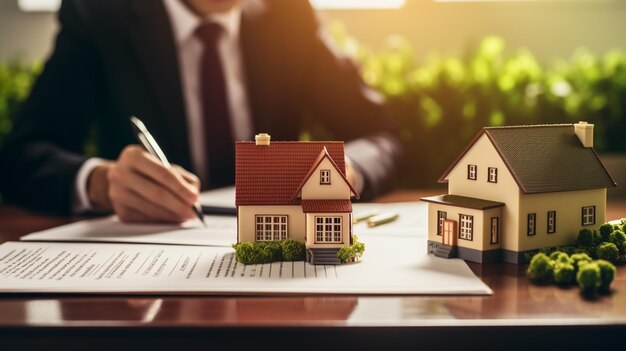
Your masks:
{"label": "dark grey-brown main roof of the right-hand model house", "polygon": [[470,141],[439,178],[448,174],[486,134],[525,194],[577,191],[616,186],[593,148],[586,148],[573,124],[487,127]]}

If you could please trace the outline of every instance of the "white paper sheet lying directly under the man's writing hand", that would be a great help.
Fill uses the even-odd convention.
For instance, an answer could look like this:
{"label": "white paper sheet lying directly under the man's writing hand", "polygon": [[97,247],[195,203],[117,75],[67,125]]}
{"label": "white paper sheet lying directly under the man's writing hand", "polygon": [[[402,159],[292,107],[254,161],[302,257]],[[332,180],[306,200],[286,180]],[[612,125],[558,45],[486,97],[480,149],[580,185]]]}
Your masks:
{"label": "white paper sheet lying directly under the man's writing hand", "polygon": [[205,216],[183,225],[130,224],[116,216],[89,219],[25,235],[22,241],[76,241],[231,246],[237,242],[237,218]]}

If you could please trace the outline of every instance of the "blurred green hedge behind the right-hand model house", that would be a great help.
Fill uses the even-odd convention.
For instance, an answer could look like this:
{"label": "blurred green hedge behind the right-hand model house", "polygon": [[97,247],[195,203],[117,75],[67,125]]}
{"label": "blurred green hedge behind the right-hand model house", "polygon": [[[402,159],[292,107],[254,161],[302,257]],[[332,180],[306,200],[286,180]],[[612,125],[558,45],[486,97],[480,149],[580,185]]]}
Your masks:
{"label": "blurred green hedge behind the right-hand model house", "polygon": [[404,185],[432,185],[483,126],[594,123],[599,152],[626,152],[626,52],[584,49],[547,67],[526,49],[505,53],[486,37],[466,54],[428,54],[393,36],[371,51],[332,26],[340,48],[362,64],[402,126],[409,162]]}

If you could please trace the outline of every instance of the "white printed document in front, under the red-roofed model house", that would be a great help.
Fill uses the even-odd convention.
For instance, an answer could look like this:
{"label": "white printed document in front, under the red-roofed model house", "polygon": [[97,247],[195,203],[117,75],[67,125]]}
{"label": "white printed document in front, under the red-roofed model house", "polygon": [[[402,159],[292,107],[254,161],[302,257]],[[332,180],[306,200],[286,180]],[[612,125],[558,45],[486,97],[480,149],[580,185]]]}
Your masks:
{"label": "white printed document in front, under the red-roofed model house", "polygon": [[138,294],[491,294],[461,260],[424,254],[423,240],[368,236],[358,263],[245,266],[232,248],[8,242],[0,292]]}

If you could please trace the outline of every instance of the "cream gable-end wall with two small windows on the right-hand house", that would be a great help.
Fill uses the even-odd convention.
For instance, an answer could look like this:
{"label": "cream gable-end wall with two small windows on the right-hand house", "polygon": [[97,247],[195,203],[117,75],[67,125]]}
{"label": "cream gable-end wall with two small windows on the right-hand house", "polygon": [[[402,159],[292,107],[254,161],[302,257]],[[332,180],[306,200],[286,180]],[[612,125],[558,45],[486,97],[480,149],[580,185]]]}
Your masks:
{"label": "cream gable-end wall with two small windows on the right-hand house", "polygon": [[[469,164],[478,167],[476,180],[467,179]],[[488,167],[498,169],[497,183],[487,181]],[[506,250],[519,250],[517,233],[520,190],[486,134],[476,141],[448,174],[448,194],[505,203],[501,216],[501,246]]]}

